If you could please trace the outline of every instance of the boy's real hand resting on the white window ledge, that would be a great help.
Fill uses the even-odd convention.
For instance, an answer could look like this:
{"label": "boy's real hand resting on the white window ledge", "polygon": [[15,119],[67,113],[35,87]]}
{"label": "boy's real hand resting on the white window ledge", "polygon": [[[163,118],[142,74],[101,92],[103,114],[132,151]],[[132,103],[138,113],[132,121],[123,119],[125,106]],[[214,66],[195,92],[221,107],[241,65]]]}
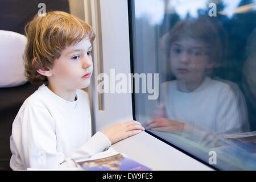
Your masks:
{"label": "boy's real hand resting on the white window ledge", "polygon": [[120,122],[102,131],[112,144],[145,130],[138,121]]}

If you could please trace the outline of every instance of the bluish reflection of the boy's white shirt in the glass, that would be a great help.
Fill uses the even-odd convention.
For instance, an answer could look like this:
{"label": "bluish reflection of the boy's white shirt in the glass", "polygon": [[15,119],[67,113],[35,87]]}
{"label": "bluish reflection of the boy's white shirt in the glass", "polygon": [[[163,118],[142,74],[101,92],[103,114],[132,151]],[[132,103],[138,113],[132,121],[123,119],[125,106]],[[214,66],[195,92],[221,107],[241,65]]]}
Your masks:
{"label": "bluish reflection of the boy's white shirt in the glass", "polygon": [[185,122],[184,133],[201,137],[207,133],[249,131],[244,100],[236,84],[209,77],[189,93],[177,90],[176,80],[162,85],[162,102],[167,117]]}

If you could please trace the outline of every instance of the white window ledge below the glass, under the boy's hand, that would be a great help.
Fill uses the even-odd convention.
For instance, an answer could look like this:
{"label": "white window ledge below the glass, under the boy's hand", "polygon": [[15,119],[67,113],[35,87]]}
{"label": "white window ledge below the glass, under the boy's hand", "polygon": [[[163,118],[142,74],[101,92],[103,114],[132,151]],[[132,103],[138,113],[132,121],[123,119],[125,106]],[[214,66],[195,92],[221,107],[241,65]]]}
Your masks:
{"label": "white window ledge below the glass, under the boy's hand", "polygon": [[144,131],[112,147],[153,170],[213,170]]}

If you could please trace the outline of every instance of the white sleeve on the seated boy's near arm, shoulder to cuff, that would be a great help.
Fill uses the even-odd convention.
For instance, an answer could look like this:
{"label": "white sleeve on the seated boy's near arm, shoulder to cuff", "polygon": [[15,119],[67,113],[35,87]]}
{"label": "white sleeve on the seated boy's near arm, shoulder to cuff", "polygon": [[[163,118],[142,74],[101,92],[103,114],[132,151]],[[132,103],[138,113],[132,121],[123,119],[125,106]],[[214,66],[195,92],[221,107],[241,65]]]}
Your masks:
{"label": "white sleeve on the seated boy's near arm, shoulder to cuff", "polygon": [[46,108],[27,105],[13,124],[14,158],[20,160],[25,169],[75,168],[72,158],[90,156],[111,146],[109,139],[98,132],[70,156],[65,156],[57,151],[55,131],[55,122]]}

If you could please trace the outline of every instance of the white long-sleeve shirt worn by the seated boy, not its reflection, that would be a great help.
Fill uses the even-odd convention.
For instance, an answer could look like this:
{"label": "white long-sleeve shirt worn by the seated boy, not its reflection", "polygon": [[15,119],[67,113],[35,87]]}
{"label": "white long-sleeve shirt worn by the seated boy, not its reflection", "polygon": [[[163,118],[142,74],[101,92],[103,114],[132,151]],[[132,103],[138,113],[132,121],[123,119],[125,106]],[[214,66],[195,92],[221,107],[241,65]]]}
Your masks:
{"label": "white long-sleeve shirt worn by the seated boy, not its reflection", "polygon": [[72,160],[111,146],[101,132],[92,137],[89,99],[77,90],[76,101],[67,101],[42,85],[24,101],[13,122],[10,167],[69,168]]}

